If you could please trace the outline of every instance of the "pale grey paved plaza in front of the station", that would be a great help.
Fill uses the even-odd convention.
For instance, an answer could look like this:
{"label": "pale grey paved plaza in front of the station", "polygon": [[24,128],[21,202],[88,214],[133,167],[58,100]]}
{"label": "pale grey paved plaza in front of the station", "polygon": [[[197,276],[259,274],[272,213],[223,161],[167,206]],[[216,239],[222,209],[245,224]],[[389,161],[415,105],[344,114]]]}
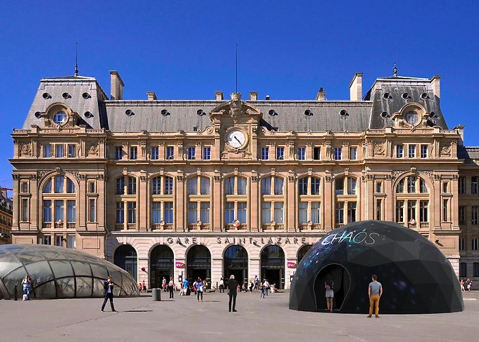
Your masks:
{"label": "pale grey paved plaza in front of the station", "polygon": [[[166,293],[161,293],[165,299]],[[100,311],[103,299],[0,301],[1,341],[475,341],[479,293],[465,293],[465,311],[437,315],[306,313],[288,308],[289,293],[265,299],[239,293],[237,313],[228,295],[205,293],[153,302],[116,298],[118,313]]]}

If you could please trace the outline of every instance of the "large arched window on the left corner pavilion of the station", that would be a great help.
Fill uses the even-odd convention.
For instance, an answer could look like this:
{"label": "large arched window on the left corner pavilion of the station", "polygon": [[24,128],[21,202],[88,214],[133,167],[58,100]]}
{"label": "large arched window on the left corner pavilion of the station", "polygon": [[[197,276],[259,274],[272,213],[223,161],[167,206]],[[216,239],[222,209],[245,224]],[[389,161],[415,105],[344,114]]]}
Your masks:
{"label": "large arched window on the left corner pavilion of the station", "polygon": [[[68,176],[53,175],[45,182],[42,189],[42,228],[75,228],[75,192],[75,183]],[[64,241],[56,239],[55,244],[63,246]]]}

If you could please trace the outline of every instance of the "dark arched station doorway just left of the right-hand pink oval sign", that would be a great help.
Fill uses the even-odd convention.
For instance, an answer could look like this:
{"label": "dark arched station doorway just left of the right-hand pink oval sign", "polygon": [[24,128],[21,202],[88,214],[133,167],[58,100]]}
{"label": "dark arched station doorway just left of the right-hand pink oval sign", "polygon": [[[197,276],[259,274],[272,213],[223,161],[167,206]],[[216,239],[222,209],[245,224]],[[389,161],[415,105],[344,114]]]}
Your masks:
{"label": "dark arched station doorway just left of the right-hand pink oval sign", "polygon": [[276,245],[267,246],[261,252],[261,280],[268,279],[270,284],[283,289],[285,287],[285,252]]}

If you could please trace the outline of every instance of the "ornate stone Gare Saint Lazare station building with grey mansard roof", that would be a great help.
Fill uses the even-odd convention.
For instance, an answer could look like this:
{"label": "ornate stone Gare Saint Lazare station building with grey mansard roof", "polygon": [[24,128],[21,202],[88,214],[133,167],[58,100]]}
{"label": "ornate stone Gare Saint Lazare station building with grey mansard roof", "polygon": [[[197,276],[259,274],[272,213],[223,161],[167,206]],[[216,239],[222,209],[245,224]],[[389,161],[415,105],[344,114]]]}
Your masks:
{"label": "ornate stone Gare Saint Lazare station building with grey mansard roof", "polygon": [[289,288],[329,231],[385,220],[479,277],[479,148],[448,127],[439,76],[363,92],[357,73],[346,101],[180,101],[126,100],[110,75],[109,96],[93,77],[40,80],[12,133],[14,244],[76,248],[148,288],[230,274]]}

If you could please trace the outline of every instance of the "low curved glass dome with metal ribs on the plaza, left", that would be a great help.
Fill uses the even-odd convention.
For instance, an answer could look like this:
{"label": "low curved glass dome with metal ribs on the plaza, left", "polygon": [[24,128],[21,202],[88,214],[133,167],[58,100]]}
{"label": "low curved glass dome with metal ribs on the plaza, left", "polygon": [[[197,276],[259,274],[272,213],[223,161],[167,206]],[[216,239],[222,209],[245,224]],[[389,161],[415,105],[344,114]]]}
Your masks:
{"label": "low curved glass dome with metal ribs on the plaza, left", "polygon": [[103,296],[103,280],[112,276],[114,295],[138,295],[138,285],[124,269],[90,254],[47,245],[0,246],[0,296],[21,298],[28,274],[34,298]]}

